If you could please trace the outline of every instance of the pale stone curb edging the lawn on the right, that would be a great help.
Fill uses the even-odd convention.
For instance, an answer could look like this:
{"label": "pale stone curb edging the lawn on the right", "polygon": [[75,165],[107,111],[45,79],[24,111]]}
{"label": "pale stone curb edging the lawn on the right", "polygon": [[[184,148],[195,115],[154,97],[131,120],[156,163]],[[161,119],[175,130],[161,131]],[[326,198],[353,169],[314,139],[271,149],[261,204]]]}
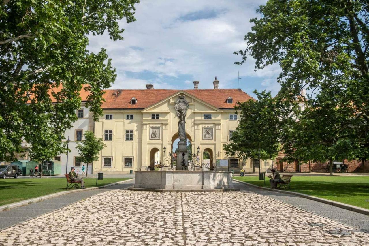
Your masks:
{"label": "pale stone curb edging the lawn on the right", "polygon": [[358,213],[363,213],[365,215],[369,215],[369,209],[359,208],[357,206],[352,206],[352,205],[344,204],[344,203],[341,203],[341,202],[335,202],[335,201],[324,199],[324,198],[320,198],[320,197],[314,197],[314,196],[306,195],[306,194],[299,193],[299,192],[284,191],[284,190],[281,190],[281,189],[270,189],[270,188],[260,187],[258,185],[246,183],[246,182],[243,182],[243,181],[235,180],[235,179],[232,179],[232,180],[233,181],[236,181],[236,182],[240,182],[240,183],[245,184],[245,185],[249,185],[249,186],[255,187],[255,188],[266,189],[268,191],[275,191],[275,192],[280,192],[280,193],[295,195],[295,196],[298,196],[298,197],[307,198],[307,199],[314,200],[314,201],[317,201],[317,202],[323,202],[325,204],[329,204],[329,205],[332,205],[332,206],[335,206],[335,207],[344,208],[344,209],[351,210],[351,211],[354,211],[354,212],[358,212]]}

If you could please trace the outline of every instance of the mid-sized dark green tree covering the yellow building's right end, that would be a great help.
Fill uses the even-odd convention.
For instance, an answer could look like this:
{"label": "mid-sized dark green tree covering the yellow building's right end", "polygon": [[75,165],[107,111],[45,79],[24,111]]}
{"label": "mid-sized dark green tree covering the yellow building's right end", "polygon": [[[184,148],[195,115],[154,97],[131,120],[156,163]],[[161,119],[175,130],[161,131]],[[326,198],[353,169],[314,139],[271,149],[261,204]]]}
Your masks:
{"label": "mid-sized dark green tree covering the yellow building's right end", "polygon": [[[233,132],[230,144],[224,150],[230,156],[243,156],[259,160],[272,159],[280,151],[282,131],[293,123],[289,107],[283,100],[272,98],[270,92],[254,91],[257,100],[237,102],[239,124]],[[255,168],[254,168],[255,172]]]}

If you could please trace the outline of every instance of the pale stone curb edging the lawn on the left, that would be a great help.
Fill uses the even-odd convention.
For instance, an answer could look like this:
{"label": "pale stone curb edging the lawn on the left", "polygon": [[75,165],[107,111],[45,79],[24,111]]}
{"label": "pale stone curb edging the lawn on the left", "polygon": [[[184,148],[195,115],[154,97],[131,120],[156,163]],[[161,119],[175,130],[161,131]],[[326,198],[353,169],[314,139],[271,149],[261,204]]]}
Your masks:
{"label": "pale stone curb edging the lawn on the left", "polygon": [[92,190],[92,189],[103,189],[103,188],[113,186],[113,185],[116,185],[116,184],[122,184],[122,183],[125,183],[125,182],[128,182],[128,181],[131,181],[131,180],[134,180],[134,178],[131,178],[129,180],[119,181],[119,182],[116,182],[116,183],[107,184],[107,185],[104,185],[104,186],[91,187],[91,188],[87,188],[87,189],[73,189],[73,190],[70,190],[70,191],[61,191],[61,192],[45,195],[45,196],[42,196],[42,197],[36,197],[36,198],[31,198],[31,199],[20,201],[20,202],[14,202],[14,203],[11,203],[11,204],[6,204],[6,205],[3,205],[3,206],[0,206],[0,211],[10,209],[10,208],[16,208],[16,207],[27,205],[27,204],[31,204],[33,202],[39,202],[39,201],[42,201],[42,200],[45,200],[45,199],[48,199],[48,198],[52,198],[52,197],[58,197],[60,195],[64,195],[64,194],[68,194],[68,193],[79,192],[79,191],[89,191],[89,190]]}

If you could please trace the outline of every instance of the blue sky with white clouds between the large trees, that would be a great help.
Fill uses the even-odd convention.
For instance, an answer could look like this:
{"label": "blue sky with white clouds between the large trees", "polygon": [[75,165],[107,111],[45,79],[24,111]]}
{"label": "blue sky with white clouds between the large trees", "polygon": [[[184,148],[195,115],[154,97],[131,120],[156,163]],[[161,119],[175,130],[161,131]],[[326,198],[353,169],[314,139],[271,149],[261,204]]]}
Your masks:
{"label": "blue sky with white clouds between the large trees", "polygon": [[142,0],[136,5],[137,21],[124,28],[124,40],[112,41],[107,34],[91,36],[88,49],[107,49],[117,69],[112,89],[199,89],[239,88],[254,96],[253,90],[270,90],[276,95],[280,73],[278,64],[254,71],[254,60],[235,65],[241,56],[234,51],[246,48],[244,35],[251,31],[251,18],[265,1],[172,1]]}

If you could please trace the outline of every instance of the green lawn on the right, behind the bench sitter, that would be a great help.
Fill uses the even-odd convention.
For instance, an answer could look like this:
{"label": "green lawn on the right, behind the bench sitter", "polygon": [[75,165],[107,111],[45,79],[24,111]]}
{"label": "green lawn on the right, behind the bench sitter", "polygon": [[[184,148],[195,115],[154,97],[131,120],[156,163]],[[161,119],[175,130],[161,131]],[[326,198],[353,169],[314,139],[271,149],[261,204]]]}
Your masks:
{"label": "green lawn on the right, behind the bench sitter", "polygon": [[[258,186],[264,186],[264,181],[259,177],[234,177],[239,181],[248,182]],[[270,187],[269,178],[266,178],[266,187]],[[291,189],[321,197],[332,201],[342,202],[369,209],[369,177],[339,177],[339,176],[293,176],[291,179]],[[368,200],[368,201],[365,201]]]}

